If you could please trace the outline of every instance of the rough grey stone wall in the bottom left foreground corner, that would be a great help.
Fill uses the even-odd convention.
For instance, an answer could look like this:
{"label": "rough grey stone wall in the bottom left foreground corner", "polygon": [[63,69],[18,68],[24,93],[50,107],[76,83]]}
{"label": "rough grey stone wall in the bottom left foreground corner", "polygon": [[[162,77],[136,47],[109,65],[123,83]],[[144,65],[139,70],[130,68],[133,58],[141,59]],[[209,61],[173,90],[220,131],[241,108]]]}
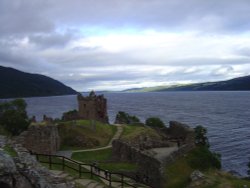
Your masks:
{"label": "rough grey stone wall in the bottom left foreground corner", "polygon": [[74,188],[75,183],[51,173],[30,155],[18,139],[8,140],[0,136],[1,149],[8,145],[17,152],[12,158],[0,150],[1,188]]}

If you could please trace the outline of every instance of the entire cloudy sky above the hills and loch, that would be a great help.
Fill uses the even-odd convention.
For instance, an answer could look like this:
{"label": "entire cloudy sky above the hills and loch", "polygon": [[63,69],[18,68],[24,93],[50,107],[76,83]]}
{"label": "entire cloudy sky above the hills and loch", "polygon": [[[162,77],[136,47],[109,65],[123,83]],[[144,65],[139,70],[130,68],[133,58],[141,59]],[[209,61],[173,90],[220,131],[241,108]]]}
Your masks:
{"label": "entire cloudy sky above the hills and loch", "polygon": [[250,74],[249,0],[1,0],[0,65],[78,91]]}

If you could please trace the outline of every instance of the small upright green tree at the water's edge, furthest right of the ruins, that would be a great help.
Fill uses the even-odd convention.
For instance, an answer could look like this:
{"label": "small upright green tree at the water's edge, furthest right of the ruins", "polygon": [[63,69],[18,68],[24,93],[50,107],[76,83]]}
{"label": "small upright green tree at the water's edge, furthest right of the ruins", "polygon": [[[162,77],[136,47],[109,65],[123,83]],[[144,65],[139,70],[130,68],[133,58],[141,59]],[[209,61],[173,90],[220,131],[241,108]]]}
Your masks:
{"label": "small upright green tree at the water's edge, furthest right of the ruins", "polygon": [[209,142],[207,139],[207,129],[201,125],[194,128],[195,131],[195,142],[197,145],[203,145],[209,147]]}

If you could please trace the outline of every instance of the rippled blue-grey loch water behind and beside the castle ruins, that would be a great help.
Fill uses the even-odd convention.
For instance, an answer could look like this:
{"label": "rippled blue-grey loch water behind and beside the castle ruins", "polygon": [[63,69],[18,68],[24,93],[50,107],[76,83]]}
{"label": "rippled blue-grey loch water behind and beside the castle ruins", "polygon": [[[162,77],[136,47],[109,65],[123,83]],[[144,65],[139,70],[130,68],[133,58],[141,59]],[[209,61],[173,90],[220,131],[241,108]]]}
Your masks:
{"label": "rippled blue-grey loch water behind and beside the castle ruins", "polygon": [[[159,117],[166,124],[175,120],[191,127],[205,126],[211,149],[222,155],[222,166],[247,175],[250,160],[250,92],[150,92],[105,93],[111,123],[118,111],[138,116],[142,121]],[[60,118],[77,109],[76,96],[26,98],[29,116]]]}

